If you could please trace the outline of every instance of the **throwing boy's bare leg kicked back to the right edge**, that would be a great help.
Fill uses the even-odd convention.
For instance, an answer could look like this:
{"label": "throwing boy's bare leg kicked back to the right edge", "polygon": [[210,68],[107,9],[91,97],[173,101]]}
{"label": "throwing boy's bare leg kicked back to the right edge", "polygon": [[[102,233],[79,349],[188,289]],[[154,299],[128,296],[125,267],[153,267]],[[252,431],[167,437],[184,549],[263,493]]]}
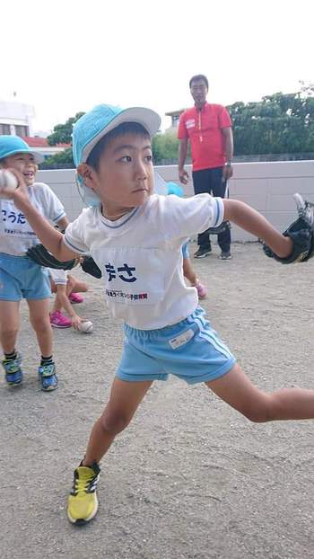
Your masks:
{"label": "throwing boy's bare leg kicked back to the right edge", "polygon": [[314,390],[283,388],[267,394],[253,385],[239,365],[234,365],[223,377],[205,384],[250,421],[314,418]]}

